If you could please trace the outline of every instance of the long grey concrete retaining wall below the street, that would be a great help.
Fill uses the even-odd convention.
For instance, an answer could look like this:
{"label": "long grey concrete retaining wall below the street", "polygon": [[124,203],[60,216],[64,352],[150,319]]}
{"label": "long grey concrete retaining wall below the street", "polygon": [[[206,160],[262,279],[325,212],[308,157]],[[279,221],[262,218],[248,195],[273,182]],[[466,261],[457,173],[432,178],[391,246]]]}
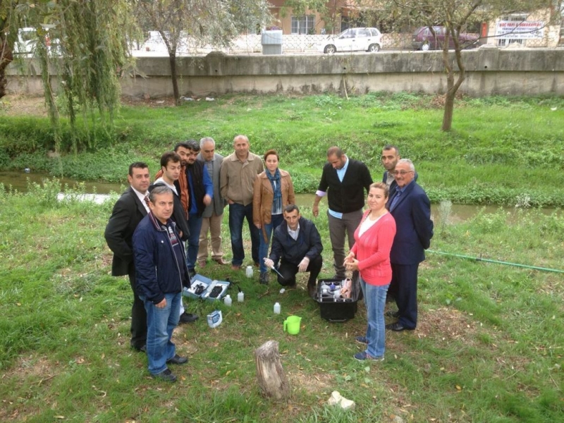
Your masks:
{"label": "long grey concrete retaining wall below the street", "polygon": [[[311,54],[178,58],[180,93],[197,97],[231,92],[271,93],[446,90],[441,51],[377,54]],[[463,51],[467,79],[460,91],[475,97],[491,94],[564,94],[564,49],[475,49]],[[166,57],[137,59],[140,74],[123,78],[123,94],[172,95]],[[40,94],[37,77],[24,78],[8,68],[8,90]]]}

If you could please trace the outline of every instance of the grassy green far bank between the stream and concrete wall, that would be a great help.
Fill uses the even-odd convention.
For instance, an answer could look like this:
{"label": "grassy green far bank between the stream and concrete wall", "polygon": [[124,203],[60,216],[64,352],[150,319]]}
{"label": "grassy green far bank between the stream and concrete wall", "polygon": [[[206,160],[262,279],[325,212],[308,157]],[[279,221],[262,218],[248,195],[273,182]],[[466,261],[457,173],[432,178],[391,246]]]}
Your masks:
{"label": "grassy green far bank between the stream and concrete wall", "polygon": [[[245,133],[257,154],[278,149],[297,192],[317,189],[331,145],[362,159],[377,180],[381,147],[395,144],[414,161],[432,202],[564,206],[563,98],[465,97],[457,101],[451,133],[440,131],[442,105],[442,97],[384,92],[349,100],[231,95],[178,107],[149,99],[124,104],[111,134],[70,133],[63,125],[61,154],[48,153],[54,140],[46,117],[0,112],[0,170],[125,183],[132,161],[147,161],[156,173],[161,153],[178,141],[211,135],[226,155],[233,136]],[[78,154],[69,152],[73,142]],[[555,170],[550,178],[548,168]]]}

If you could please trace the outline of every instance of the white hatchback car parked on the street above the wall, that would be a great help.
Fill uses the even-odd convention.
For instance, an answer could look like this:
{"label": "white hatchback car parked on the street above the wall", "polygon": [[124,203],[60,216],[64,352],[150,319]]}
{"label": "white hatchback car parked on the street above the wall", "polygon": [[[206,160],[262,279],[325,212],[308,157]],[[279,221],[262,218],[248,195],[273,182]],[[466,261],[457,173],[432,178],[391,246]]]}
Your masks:
{"label": "white hatchback car parked on the street above the wall", "polygon": [[317,46],[323,53],[337,51],[380,51],[382,35],[378,28],[349,28],[336,37],[328,37]]}

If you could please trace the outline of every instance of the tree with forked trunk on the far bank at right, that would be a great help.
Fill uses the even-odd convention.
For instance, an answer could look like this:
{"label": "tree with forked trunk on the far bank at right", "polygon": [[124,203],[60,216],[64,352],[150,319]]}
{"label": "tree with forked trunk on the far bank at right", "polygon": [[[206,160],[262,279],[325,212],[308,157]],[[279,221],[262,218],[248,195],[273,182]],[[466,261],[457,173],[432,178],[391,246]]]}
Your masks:
{"label": "tree with forked trunk on the far bank at right", "polygon": [[[448,131],[453,124],[455,95],[466,78],[466,67],[462,58],[465,45],[460,42],[459,35],[471,23],[482,23],[495,20],[510,13],[535,13],[550,11],[551,19],[560,17],[560,0],[357,0],[364,6],[372,4],[382,8],[386,13],[396,16],[398,20],[409,20],[417,26],[427,26],[434,32],[434,26],[446,29],[443,43],[442,59],[446,73],[446,94],[441,129]],[[454,51],[449,51],[450,39]]]}

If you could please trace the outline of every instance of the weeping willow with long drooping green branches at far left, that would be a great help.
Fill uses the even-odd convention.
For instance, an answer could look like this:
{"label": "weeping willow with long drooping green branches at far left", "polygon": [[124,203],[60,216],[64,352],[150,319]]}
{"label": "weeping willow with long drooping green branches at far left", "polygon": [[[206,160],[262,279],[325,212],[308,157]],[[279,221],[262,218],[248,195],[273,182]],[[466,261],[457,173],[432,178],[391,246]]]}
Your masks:
{"label": "weeping willow with long drooping green branches at far left", "polygon": [[[86,128],[93,125],[101,125],[107,131],[113,128],[121,94],[118,78],[127,61],[128,3],[115,0],[0,2],[0,19],[5,11],[11,13],[10,34],[17,33],[22,23],[35,28],[37,39],[32,54],[42,75],[55,149],[61,148],[61,106],[73,128],[70,147],[76,151],[79,147],[94,146],[96,140],[88,134],[79,145],[74,128],[78,118],[82,118]],[[13,38],[9,42],[13,43]],[[55,101],[56,95],[65,101]]]}

